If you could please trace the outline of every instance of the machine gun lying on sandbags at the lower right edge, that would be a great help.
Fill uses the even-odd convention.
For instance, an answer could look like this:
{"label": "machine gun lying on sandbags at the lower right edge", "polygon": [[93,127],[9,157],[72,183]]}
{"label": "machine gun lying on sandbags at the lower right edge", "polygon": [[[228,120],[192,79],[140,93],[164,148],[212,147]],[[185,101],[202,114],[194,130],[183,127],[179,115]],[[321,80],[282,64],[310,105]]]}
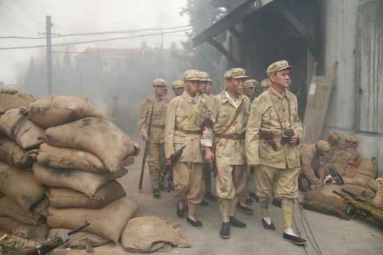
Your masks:
{"label": "machine gun lying on sandbags at the lower right edge", "polygon": [[383,227],[383,206],[374,204],[371,199],[355,195],[354,193],[341,189],[346,195],[343,195],[336,190],[332,192],[339,197],[342,197],[347,203],[347,215],[350,217],[356,217],[366,219]]}

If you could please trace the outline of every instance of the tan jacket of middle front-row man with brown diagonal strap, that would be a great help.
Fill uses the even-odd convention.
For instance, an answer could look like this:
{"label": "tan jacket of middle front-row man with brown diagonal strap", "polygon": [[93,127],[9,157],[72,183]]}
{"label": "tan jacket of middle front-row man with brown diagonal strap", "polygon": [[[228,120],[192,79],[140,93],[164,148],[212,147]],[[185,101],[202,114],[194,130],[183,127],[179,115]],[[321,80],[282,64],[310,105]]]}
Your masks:
{"label": "tan jacket of middle front-row man with brown diagonal strap", "polygon": [[[247,126],[247,119],[249,118],[250,111],[250,99],[249,97],[241,94],[237,101],[237,107],[244,101],[244,105],[241,113],[238,115],[235,123],[230,126],[230,129],[226,132],[226,135],[230,134],[244,134]],[[231,139],[219,139],[217,135],[224,132],[224,129],[230,124],[231,120],[237,110],[234,104],[226,97],[226,92],[221,92],[214,97],[214,104],[212,104],[212,119],[214,123],[214,144],[216,150],[216,160],[220,163],[229,163],[231,165],[244,165],[246,164],[246,154],[244,153],[244,140],[231,140]]]}

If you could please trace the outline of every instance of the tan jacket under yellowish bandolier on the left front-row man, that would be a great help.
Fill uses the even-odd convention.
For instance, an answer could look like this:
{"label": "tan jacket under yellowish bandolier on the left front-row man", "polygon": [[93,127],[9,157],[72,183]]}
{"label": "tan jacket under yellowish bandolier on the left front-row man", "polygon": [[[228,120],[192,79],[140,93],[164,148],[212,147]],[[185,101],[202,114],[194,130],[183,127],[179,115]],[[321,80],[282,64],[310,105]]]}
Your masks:
{"label": "tan jacket under yellowish bandolier on the left front-row man", "polygon": [[175,131],[178,127],[194,110],[198,100],[201,100],[201,107],[198,109],[199,114],[196,120],[190,123],[185,129],[200,130],[203,120],[208,116],[208,106],[205,99],[202,97],[190,97],[185,91],[180,97],[175,97],[169,103],[166,111],[166,125],[165,125],[165,156],[170,158],[175,150],[180,149],[183,145],[185,148],[182,151],[180,162],[203,163],[203,156],[201,152],[201,134],[182,134]]}

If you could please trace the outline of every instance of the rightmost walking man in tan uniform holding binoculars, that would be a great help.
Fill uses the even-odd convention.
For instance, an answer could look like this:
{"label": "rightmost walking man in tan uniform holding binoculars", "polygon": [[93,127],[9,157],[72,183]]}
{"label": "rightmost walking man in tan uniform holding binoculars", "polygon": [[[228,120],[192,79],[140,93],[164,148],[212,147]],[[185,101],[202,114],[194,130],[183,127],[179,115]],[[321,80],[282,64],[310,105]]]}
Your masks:
{"label": "rightmost walking man in tan uniform holding binoculars", "polygon": [[267,68],[272,85],[251,104],[246,130],[246,156],[247,163],[256,166],[254,179],[263,227],[275,230],[268,206],[269,195],[273,191],[273,176],[278,172],[274,189],[282,199],[283,238],[303,245],[306,240],[299,238],[292,230],[300,170],[297,143],[302,136],[302,122],[298,116],[297,97],[286,90],[290,85],[290,68],[286,60],[272,63]]}

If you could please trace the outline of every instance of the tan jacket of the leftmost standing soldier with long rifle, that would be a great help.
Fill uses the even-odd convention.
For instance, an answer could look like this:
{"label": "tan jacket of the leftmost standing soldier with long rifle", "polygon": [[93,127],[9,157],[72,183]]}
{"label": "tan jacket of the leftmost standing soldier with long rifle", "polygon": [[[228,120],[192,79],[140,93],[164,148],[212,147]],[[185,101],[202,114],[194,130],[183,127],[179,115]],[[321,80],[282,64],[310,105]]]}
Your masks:
{"label": "tan jacket of the leftmost standing soldier with long rifle", "polygon": [[149,112],[153,108],[152,126],[150,128],[150,143],[164,142],[164,128],[155,127],[165,125],[166,108],[169,104],[169,97],[157,97],[156,95],[150,96],[143,101],[141,114],[139,118],[139,131],[140,135],[148,133]]}

